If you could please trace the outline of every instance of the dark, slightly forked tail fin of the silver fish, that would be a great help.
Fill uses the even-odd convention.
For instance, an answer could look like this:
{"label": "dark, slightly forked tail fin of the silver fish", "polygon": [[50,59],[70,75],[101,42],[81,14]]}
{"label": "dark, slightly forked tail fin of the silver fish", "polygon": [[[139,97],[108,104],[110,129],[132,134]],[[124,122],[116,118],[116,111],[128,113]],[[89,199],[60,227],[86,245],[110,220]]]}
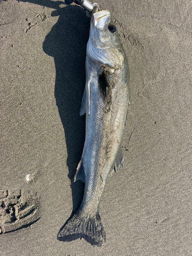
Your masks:
{"label": "dark, slightly forked tail fin of the silver fish", "polygon": [[79,210],[60,229],[57,240],[70,242],[78,238],[84,238],[91,245],[101,246],[105,244],[105,230],[99,212],[94,217],[84,217]]}

